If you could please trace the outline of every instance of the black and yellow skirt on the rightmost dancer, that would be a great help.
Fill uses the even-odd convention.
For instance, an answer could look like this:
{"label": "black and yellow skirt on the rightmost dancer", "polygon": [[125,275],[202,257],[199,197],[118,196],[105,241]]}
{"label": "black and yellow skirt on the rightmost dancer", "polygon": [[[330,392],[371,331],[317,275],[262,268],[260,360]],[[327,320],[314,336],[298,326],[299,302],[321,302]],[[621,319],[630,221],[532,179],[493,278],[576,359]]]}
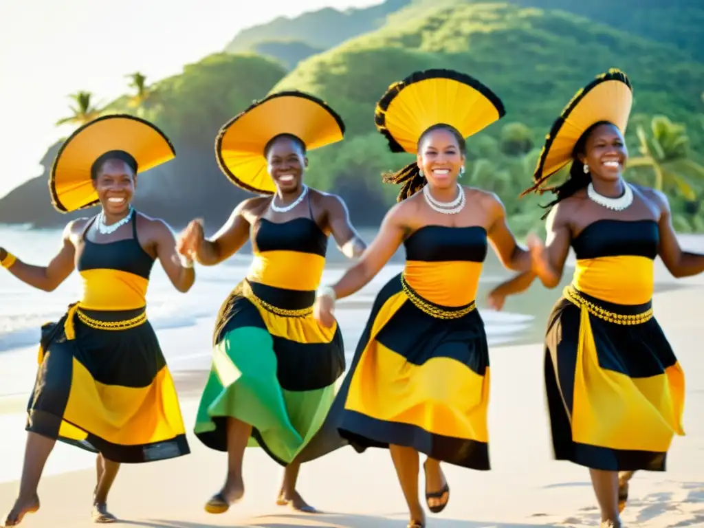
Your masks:
{"label": "black and yellow skirt on the rightmost dancer", "polygon": [[545,383],[555,458],[665,470],[672,437],[684,434],[684,372],[650,303],[565,288],[548,320]]}

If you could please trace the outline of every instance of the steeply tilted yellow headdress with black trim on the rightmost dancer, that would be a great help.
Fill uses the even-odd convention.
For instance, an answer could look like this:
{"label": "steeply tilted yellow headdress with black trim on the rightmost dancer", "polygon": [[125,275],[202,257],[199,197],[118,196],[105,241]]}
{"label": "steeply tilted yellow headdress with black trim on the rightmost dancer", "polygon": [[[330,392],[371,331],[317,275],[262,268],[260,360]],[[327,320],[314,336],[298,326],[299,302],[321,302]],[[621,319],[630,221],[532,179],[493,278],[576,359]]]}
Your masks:
{"label": "steeply tilted yellow headdress with black trim on the rightmost dancer", "polygon": [[572,161],[577,142],[596,123],[610,122],[625,134],[631,106],[631,82],[625,73],[615,68],[598,75],[579,90],[546,136],[533,174],[534,185],[525,193],[547,190],[541,189],[543,184]]}

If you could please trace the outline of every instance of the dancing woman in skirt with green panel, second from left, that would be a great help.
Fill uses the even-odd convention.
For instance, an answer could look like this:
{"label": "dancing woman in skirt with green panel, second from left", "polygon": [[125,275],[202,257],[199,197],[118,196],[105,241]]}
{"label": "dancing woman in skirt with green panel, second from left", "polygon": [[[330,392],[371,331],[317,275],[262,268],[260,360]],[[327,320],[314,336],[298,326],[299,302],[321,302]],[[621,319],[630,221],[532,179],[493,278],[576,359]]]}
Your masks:
{"label": "dancing woman in skirt with green panel, second from left", "polygon": [[286,467],[277,503],[314,512],[296,491],[296,455],[318,432],[344,373],[342,335],[313,318],[315,290],[330,234],[348,257],[365,244],[337,196],[303,184],[306,150],[343,139],[344,124],[325,103],[279,92],[227,123],[216,142],[218,163],[234,184],[272,196],[247,199],[212,239],[191,222],[179,247],[203,265],[229,258],[251,238],[246,278],[225,299],[213,334],[213,366],[195,433],[227,451],[227,478],[208,503],[224,513],[244,496],[246,446],[261,446]]}

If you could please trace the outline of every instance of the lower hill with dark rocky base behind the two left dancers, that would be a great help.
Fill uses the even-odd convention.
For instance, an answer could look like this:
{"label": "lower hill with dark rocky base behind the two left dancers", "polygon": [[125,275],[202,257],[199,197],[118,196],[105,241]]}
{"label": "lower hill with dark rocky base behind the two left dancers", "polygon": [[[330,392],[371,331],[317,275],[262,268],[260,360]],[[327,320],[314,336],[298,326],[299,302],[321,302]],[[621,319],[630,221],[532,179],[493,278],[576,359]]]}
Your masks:
{"label": "lower hill with dark rocky base behind the two left dancers", "polygon": [[[224,221],[246,195],[222,176],[213,155],[220,127],[268,92],[285,75],[279,63],[255,55],[214,54],[185,65],[180,75],[146,87],[139,106],[125,95],[103,113],[133,113],[151,120],[168,135],[177,159],[139,180],[135,206],[180,224],[195,215],[209,223]],[[68,109],[67,109],[68,111]],[[61,224],[85,215],[61,215],[49,200],[49,170],[61,142],[42,159],[44,173],[0,199],[0,223]]]}

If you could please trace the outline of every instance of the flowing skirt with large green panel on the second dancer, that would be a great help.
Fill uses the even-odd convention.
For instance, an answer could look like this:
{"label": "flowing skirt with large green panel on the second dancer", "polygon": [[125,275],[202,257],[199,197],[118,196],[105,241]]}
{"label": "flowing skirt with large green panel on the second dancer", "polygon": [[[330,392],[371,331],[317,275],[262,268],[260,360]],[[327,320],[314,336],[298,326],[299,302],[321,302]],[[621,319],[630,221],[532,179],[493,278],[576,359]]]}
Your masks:
{"label": "flowing skirt with large green panel on the second dancer", "polygon": [[342,334],[313,318],[315,291],[244,280],[225,299],[194,432],[227,451],[227,418],[252,426],[248,446],[288,465],[318,434],[345,371]]}

